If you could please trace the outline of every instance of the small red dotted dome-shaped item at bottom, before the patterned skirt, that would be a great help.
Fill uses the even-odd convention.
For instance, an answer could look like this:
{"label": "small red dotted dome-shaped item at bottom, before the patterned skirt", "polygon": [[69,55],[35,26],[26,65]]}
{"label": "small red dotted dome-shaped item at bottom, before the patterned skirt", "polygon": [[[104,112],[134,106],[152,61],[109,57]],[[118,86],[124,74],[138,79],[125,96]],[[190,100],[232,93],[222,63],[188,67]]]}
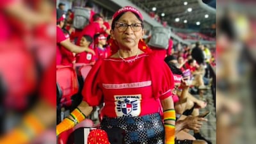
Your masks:
{"label": "small red dotted dome-shaped item at bottom, before the patterned skirt", "polygon": [[89,144],[110,144],[108,134],[102,129],[93,129],[88,135]]}

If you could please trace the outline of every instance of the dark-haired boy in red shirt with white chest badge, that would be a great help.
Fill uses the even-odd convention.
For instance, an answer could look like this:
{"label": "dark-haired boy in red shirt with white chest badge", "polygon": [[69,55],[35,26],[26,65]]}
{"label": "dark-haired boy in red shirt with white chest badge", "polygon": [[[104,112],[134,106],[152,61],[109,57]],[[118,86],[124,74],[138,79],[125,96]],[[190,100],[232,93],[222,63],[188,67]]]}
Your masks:
{"label": "dark-haired boy in red shirt with white chest badge", "polygon": [[[92,44],[93,40],[91,36],[89,35],[84,35],[81,40],[80,40],[80,46],[81,47],[90,47]],[[93,49],[92,49],[93,51]],[[96,61],[96,56],[93,56],[91,52],[80,52],[76,54],[76,63],[90,63],[94,64]]]}

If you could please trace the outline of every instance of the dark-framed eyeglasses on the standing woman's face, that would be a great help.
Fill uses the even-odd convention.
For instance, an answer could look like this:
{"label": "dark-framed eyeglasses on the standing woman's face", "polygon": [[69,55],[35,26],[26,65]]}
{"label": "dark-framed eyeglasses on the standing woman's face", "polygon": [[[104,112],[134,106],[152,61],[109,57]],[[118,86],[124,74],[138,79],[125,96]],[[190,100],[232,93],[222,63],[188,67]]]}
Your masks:
{"label": "dark-framed eyeglasses on the standing woman's face", "polygon": [[137,32],[140,31],[143,26],[141,23],[125,24],[123,22],[116,22],[115,25],[120,32],[126,31],[129,26],[131,26],[132,31]]}

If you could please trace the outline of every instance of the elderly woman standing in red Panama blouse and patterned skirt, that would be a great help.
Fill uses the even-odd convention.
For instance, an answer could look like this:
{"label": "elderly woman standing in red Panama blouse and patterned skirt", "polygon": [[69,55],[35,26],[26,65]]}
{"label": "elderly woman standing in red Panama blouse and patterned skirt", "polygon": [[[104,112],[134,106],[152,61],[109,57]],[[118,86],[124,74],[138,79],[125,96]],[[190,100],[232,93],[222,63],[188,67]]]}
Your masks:
{"label": "elderly woman standing in red Panama blouse and patterned skirt", "polygon": [[71,113],[81,114],[69,121],[81,121],[86,109],[104,102],[100,127],[123,129],[124,143],[174,143],[173,75],[141,45],[143,34],[143,16],[135,8],[125,6],[113,15],[111,47],[117,51],[95,63],[84,82],[84,106]]}

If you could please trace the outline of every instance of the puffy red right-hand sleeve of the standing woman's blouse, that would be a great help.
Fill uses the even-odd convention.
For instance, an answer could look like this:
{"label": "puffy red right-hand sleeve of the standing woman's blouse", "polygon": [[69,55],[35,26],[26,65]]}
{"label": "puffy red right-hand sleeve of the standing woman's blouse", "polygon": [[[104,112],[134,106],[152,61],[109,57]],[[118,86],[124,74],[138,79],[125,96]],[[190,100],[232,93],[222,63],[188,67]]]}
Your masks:
{"label": "puffy red right-hand sleeve of the standing woman's blouse", "polygon": [[166,99],[172,96],[174,88],[173,74],[168,65],[155,54],[148,56],[149,71],[152,79],[153,94],[156,99]]}

